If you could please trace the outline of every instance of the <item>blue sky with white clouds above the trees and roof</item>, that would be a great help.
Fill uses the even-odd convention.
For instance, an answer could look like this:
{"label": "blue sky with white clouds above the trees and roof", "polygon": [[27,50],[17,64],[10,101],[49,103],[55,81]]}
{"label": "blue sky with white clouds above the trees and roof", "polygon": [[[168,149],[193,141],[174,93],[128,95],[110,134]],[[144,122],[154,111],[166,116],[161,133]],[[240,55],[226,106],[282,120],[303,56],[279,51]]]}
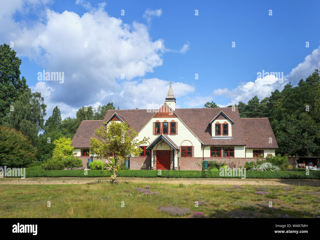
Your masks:
{"label": "blue sky with white clouds above the trees and roof", "polygon": [[0,1],[0,44],[22,59],[20,77],[42,93],[46,118],[55,106],[65,118],[108,102],[162,105],[170,82],[176,108],[226,107],[320,69],[319,9],[293,0]]}

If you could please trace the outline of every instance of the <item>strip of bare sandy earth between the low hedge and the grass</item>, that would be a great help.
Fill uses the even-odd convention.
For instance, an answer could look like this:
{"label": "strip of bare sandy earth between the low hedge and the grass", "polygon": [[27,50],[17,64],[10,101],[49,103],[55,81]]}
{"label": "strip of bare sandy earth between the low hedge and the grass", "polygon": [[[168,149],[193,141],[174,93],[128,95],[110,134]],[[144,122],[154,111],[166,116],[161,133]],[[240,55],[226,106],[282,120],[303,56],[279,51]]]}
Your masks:
{"label": "strip of bare sandy earth between the low hedge and the grass", "polygon": [[[97,181],[109,181],[101,177],[28,177],[0,178],[0,184],[90,184]],[[143,178],[119,177],[119,182],[168,183],[168,184],[211,184],[211,185],[268,185],[268,186],[320,186],[320,180],[312,179],[229,179],[229,178]]]}

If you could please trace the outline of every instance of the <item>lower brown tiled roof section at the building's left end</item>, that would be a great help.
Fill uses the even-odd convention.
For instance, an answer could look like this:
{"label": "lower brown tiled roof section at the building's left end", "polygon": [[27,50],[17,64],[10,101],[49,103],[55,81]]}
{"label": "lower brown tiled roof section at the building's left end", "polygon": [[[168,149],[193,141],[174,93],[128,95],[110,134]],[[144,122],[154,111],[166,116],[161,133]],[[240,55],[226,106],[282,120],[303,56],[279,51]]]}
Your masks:
{"label": "lower brown tiled roof section at the building's left end", "polygon": [[82,121],[75,136],[72,139],[71,146],[76,148],[90,147],[90,137],[94,137],[94,131],[103,124],[101,120]]}

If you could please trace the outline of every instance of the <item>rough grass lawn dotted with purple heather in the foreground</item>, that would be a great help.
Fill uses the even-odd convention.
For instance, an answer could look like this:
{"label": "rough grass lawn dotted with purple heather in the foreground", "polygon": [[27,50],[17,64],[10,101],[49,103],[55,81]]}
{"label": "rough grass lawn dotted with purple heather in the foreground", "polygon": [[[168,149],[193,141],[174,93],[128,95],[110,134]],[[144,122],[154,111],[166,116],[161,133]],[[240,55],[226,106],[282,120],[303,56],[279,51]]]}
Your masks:
{"label": "rough grass lawn dotted with purple heather in the foreground", "polygon": [[[146,194],[151,192],[155,194]],[[181,185],[179,182],[112,185],[102,178],[90,184],[2,184],[0,217],[188,218],[197,217],[195,213],[200,212],[206,218],[316,218],[320,216],[319,198],[316,186]],[[48,201],[51,207],[47,207]]]}

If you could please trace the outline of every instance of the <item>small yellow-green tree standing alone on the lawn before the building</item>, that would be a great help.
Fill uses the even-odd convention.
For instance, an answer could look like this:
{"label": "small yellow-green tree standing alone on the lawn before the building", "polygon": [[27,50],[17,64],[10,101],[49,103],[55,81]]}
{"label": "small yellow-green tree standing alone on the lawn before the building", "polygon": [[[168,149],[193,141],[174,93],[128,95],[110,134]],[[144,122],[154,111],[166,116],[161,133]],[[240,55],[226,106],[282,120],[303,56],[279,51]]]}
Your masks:
{"label": "small yellow-green tree standing alone on the lawn before the building", "polygon": [[98,159],[106,159],[110,153],[114,156],[112,183],[117,182],[120,156],[140,155],[141,149],[137,146],[146,144],[149,139],[146,137],[140,141],[135,139],[138,133],[133,128],[130,129],[125,122],[116,123],[114,121],[109,125],[104,122],[103,126],[95,131],[95,136],[96,138],[90,138],[91,154],[95,154]]}

